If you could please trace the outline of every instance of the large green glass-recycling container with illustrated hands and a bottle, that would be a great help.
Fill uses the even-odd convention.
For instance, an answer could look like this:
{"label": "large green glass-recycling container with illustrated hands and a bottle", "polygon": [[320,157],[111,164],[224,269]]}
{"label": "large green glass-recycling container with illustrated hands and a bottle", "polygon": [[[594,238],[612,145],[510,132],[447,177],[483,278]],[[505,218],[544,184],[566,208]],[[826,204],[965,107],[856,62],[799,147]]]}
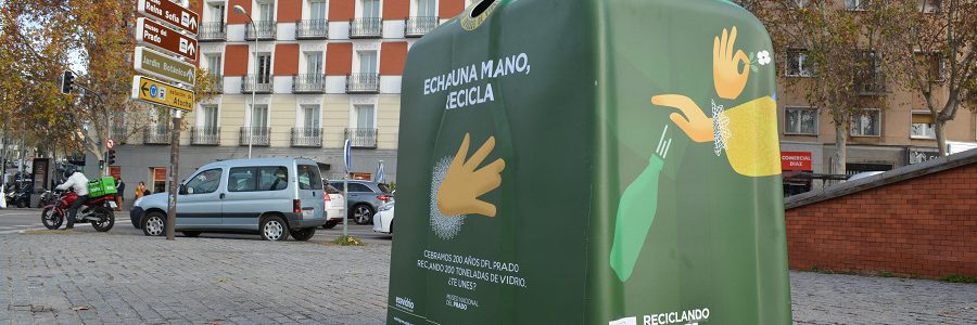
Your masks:
{"label": "large green glass-recycling container with illustrated hands and a bottle", "polygon": [[774,49],[720,0],[485,0],[410,48],[388,324],[789,324]]}

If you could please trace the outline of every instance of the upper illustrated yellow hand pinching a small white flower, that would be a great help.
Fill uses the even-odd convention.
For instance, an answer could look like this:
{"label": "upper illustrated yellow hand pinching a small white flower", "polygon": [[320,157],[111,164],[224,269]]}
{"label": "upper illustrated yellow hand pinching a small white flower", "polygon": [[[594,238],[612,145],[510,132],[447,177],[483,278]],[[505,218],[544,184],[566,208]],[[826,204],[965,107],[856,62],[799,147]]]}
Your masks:
{"label": "upper illustrated yellow hand pinching a small white flower", "polygon": [[[734,55],[735,42],[736,26],[733,26],[728,38],[726,28],[723,28],[723,38],[716,36],[712,42],[712,82],[715,86],[715,93],[726,100],[738,98],[750,76],[750,58],[743,50],[736,50]],[[744,64],[743,68],[739,67],[740,62]]]}

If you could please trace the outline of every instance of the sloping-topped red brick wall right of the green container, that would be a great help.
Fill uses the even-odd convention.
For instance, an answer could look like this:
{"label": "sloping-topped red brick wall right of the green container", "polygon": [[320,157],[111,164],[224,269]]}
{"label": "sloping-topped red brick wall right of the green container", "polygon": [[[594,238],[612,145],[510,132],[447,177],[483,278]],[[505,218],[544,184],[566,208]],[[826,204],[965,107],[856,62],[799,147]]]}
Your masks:
{"label": "sloping-topped red brick wall right of the green container", "polygon": [[790,208],[791,269],[977,276],[977,164]]}

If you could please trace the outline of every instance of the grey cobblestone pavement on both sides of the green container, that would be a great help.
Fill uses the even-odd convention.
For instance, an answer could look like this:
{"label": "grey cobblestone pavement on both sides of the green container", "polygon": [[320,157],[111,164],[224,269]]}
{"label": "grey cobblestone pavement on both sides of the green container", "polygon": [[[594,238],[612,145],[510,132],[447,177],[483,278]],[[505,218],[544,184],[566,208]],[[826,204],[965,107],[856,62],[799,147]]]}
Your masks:
{"label": "grey cobblestone pavement on both sides of the green container", "polygon": [[[0,235],[0,324],[382,324],[390,239]],[[977,285],[792,272],[796,324],[977,324]]]}

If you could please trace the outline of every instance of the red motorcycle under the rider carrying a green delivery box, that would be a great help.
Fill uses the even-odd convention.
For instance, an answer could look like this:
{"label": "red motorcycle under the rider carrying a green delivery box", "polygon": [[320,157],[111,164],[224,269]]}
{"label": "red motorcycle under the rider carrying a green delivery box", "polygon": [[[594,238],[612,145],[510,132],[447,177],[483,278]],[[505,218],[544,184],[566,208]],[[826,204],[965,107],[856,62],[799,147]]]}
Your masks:
{"label": "red motorcycle under the rider carrying a green delivery box", "polygon": [[[63,192],[54,195],[54,203],[45,206],[41,211],[41,222],[50,230],[61,227],[67,217],[67,209],[78,199],[75,192]],[[88,200],[78,208],[75,213],[75,223],[91,222],[91,226],[99,232],[107,232],[115,224],[115,195],[105,195]]]}

